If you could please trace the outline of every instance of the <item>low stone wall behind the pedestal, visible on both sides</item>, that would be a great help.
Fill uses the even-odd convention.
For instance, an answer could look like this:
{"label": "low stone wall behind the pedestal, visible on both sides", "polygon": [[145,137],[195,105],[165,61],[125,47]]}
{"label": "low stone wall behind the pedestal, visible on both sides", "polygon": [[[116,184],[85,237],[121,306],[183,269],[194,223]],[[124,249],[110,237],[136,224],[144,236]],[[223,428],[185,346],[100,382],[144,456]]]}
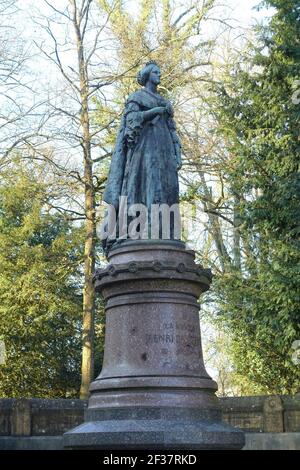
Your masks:
{"label": "low stone wall behind the pedestal, visible on both sides", "polygon": [[[221,398],[223,419],[247,433],[300,432],[300,395]],[[0,436],[61,436],[81,424],[87,402],[0,399]]]}

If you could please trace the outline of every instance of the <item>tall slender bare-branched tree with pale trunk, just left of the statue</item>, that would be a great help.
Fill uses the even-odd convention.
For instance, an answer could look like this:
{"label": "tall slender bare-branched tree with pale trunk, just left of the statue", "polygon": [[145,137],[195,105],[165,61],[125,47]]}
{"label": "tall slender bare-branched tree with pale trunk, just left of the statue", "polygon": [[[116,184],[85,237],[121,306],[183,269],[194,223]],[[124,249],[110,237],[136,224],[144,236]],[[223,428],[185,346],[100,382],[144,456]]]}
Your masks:
{"label": "tall slender bare-branched tree with pale trunk, just left of the statue", "polygon": [[[92,276],[96,262],[96,202],[97,192],[103,189],[104,179],[95,174],[97,159],[93,158],[95,147],[99,146],[98,134],[91,120],[93,96],[97,90],[110,83],[110,78],[103,78],[96,66],[101,61],[99,56],[102,27],[95,25],[95,2],[93,0],[67,0],[56,8],[51,2],[47,15],[38,12],[37,24],[46,31],[52,45],[45,41],[36,43],[47,61],[58,69],[63,87],[61,95],[49,93],[48,119],[45,130],[53,145],[68,148],[69,162],[65,169],[60,162],[60,171],[65,177],[75,180],[81,186],[83,203],[80,197],[72,201],[69,213],[74,218],[84,220],[84,284],[83,284],[83,327],[82,327],[82,365],[81,398],[89,395],[89,384],[94,378],[94,322],[95,292]],[[59,28],[61,28],[59,30]],[[68,53],[73,58],[68,64]],[[57,88],[55,86],[55,88]],[[78,164],[77,157],[81,163]],[[70,165],[70,160],[73,163]],[[56,168],[58,165],[55,165]],[[61,208],[66,209],[66,207]]]}

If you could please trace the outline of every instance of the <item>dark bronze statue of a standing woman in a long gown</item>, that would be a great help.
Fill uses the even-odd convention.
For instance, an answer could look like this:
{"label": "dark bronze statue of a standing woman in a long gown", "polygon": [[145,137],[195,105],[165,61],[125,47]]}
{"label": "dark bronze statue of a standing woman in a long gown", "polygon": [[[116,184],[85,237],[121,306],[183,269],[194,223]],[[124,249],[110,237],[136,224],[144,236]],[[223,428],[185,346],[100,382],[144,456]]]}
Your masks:
{"label": "dark bronze statue of a standing woman in a long gown", "polygon": [[171,103],[157,93],[159,66],[148,62],[137,80],[143,88],[127,99],[103,196],[117,212],[120,196],[149,211],[179,202],[180,141]]}

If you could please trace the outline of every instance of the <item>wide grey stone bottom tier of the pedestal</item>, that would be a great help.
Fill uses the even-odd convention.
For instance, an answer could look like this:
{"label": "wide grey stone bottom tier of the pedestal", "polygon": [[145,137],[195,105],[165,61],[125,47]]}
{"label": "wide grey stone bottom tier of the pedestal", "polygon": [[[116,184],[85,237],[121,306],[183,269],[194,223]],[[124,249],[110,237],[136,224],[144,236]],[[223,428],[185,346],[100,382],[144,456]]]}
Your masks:
{"label": "wide grey stone bottom tier of the pedestal", "polygon": [[[94,419],[93,419],[94,418]],[[64,435],[72,449],[241,449],[244,434],[218,412],[198,409],[114,409],[96,413]],[[90,420],[91,419],[91,420]]]}

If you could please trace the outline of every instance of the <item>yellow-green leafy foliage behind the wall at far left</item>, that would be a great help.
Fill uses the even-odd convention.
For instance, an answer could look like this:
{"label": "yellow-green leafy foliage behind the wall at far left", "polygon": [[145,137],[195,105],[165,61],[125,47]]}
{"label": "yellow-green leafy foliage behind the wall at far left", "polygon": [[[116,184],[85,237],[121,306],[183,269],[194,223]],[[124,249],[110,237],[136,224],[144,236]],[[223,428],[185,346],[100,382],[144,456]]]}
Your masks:
{"label": "yellow-green leafy foliage behind the wall at far left", "polygon": [[51,213],[49,185],[14,165],[0,183],[2,397],[76,396],[82,231]]}

